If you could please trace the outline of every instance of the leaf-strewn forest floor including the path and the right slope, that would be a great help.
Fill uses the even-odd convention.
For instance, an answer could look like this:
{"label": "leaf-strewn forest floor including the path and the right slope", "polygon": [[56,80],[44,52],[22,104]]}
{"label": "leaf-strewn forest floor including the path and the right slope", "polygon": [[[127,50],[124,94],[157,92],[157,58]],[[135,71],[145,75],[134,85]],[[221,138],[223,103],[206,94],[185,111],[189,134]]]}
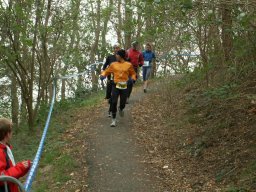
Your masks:
{"label": "leaf-strewn forest floor including the path and the right slope", "polygon": [[150,86],[146,94],[136,87],[117,127],[106,101],[60,117],[63,154],[75,165],[48,191],[256,191],[254,84],[224,99],[173,78]]}

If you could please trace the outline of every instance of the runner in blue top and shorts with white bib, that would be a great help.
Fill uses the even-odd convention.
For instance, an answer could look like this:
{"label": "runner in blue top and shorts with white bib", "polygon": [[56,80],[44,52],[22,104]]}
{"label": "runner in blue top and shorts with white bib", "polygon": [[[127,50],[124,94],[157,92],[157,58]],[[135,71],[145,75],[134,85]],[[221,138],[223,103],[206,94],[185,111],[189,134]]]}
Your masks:
{"label": "runner in blue top and shorts with white bib", "polygon": [[152,51],[152,47],[149,43],[146,44],[146,50],[143,51],[143,58],[144,58],[144,65],[143,65],[143,90],[144,93],[147,92],[148,88],[148,79],[151,74],[153,63],[155,62],[156,56],[155,53]]}

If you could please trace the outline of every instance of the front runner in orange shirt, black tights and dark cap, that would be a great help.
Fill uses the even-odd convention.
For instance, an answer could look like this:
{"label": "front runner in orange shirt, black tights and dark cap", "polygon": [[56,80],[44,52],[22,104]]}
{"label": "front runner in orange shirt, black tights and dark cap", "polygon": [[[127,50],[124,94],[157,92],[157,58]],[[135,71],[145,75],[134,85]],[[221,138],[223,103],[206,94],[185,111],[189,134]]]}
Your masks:
{"label": "front runner in orange shirt, black tights and dark cap", "polygon": [[127,99],[127,81],[131,77],[133,81],[136,80],[136,73],[131,63],[125,61],[126,52],[121,49],[116,53],[117,62],[112,63],[105,71],[101,73],[100,79],[103,80],[106,76],[111,73],[114,74],[114,83],[112,84],[112,95],[111,95],[111,110],[112,110],[112,123],[111,127],[116,126],[116,112],[117,102],[120,96],[119,115],[124,116],[124,108]]}

